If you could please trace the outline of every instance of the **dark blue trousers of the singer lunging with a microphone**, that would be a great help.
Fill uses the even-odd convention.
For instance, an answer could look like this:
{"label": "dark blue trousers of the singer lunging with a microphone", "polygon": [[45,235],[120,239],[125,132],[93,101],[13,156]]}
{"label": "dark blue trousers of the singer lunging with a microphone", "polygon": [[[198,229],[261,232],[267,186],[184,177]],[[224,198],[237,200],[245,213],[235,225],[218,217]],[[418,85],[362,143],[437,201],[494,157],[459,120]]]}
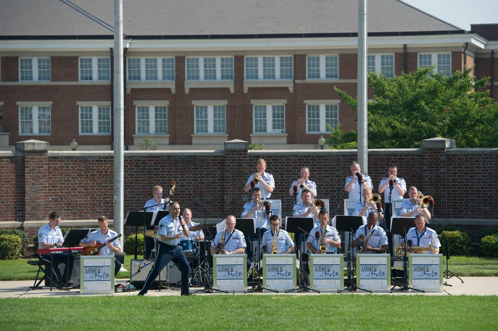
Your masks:
{"label": "dark blue trousers of the singer lunging with a microphone", "polygon": [[152,282],[156,280],[161,270],[166,267],[169,261],[172,261],[181,272],[181,294],[190,294],[190,290],[188,289],[190,266],[188,265],[185,254],[183,254],[180,246],[170,246],[161,241],[158,245],[158,253],[156,255],[156,260],[154,260],[154,266],[152,267],[151,271],[149,271],[149,275],[147,275],[144,287],[142,288],[140,293],[146,294],[147,291],[149,291]]}

